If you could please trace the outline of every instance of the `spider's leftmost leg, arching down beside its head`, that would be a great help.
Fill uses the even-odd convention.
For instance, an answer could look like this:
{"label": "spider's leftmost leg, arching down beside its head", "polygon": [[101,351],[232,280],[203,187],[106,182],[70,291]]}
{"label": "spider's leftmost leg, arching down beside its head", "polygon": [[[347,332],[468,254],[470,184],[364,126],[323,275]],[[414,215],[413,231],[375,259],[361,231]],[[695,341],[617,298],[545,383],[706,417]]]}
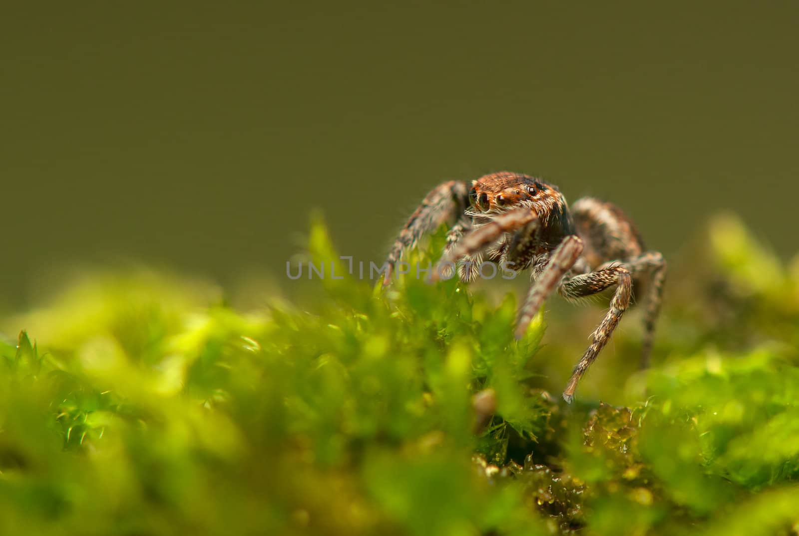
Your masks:
{"label": "spider's leftmost leg, arching down beside its head", "polygon": [[428,193],[419,208],[407,220],[392,250],[388,253],[383,286],[391,282],[394,265],[400,262],[403,251],[415,246],[425,233],[435,231],[442,223],[454,220],[456,215],[466,210],[468,201],[467,183],[459,180],[439,184]]}

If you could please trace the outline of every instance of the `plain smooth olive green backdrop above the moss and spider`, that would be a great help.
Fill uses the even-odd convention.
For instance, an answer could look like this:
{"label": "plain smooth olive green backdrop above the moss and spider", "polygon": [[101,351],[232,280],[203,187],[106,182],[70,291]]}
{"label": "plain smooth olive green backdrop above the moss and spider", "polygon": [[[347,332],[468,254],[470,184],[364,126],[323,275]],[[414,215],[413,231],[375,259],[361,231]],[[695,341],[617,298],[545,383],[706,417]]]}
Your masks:
{"label": "plain smooth olive green backdrop above the moss and spider", "polygon": [[674,254],[711,211],[796,247],[797,2],[3,7],[2,298],[141,261],[273,274],[324,211],[382,260],[445,179],[621,205]]}

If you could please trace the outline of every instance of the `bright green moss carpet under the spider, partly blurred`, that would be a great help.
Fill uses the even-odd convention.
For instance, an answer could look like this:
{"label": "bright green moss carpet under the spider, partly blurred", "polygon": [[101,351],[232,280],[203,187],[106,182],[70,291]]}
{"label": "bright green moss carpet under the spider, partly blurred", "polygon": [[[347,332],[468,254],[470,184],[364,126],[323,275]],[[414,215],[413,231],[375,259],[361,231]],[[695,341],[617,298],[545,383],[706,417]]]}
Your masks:
{"label": "bright green moss carpet under the spider, partly blurred", "polygon": [[566,406],[543,317],[455,281],[74,286],[0,343],[0,534],[797,534],[799,270],[729,217],[697,251],[626,407]]}

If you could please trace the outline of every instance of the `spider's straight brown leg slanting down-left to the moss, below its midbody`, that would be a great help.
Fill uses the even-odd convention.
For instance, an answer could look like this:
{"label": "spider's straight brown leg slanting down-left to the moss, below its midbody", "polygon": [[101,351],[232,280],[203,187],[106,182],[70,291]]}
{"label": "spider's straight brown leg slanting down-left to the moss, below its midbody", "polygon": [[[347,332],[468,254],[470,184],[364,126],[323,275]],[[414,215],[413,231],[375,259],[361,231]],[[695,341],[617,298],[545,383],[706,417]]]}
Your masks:
{"label": "spider's straight brown leg slanting down-left to the moss, below its midbody", "polygon": [[562,277],[571,270],[574,262],[577,262],[582,253],[582,239],[577,235],[569,235],[563,238],[558,247],[552,252],[547,266],[541,272],[539,278],[530,287],[527,299],[519,309],[519,319],[516,321],[515,337],[520,339],[527,332],[535,313],[539,312],[541,305],[552,290],[558,286]]}

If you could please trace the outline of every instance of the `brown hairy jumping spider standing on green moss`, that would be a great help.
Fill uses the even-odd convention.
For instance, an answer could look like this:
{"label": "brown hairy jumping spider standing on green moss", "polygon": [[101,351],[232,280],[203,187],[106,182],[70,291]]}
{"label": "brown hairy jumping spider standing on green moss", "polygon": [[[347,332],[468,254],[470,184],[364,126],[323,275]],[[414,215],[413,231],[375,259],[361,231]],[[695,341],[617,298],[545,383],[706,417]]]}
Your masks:
{"label": "brown hairy jumping spider standing on green moss", "polygon": [[391,281],[403,251],[446,222],[455,225],[447,235],[443,257],[431,270],[433,281],[447,274],[447,268],[451,274],[455,263],[461,280],[471,281],[483,259],[511,266],[515,272],[531,269],[533,283],[519,309],[517,339],[555,288],[562,297],[576,299],[616,287],[610,310],[591,334],[591,343],[566,385],[566,402],[573,400],[578,381],[630,305],[634,281],[648,283],[642,366],[648,365],[666,262],[658,251],[646,251],[633,223],[618,207],[583,198],[570,209],[554,185],[508,171],[485,175],[472,181],[471,187],[464,181],[443,183],[427,194],[400,232],[388,254],[384,285]]}

